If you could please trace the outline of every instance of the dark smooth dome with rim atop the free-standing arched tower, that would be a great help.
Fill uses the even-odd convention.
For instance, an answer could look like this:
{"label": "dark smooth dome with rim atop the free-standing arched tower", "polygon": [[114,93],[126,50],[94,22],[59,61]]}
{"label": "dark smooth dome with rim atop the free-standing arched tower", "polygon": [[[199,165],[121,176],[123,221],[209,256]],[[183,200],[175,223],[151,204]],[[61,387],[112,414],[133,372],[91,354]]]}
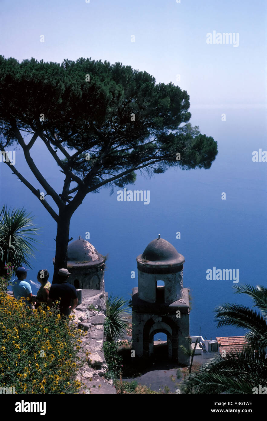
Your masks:
{"label": "dark smooth dome with rim atop the free-standing arched tower", "polygon": [[168,267],[168,266],[181,266],[185,258],[182,254],[178,253],[176,248],[167,240],[163,238],[156,238],[151,241],[143,251],[136,258],[137,264],[150,266],[150,267]]}

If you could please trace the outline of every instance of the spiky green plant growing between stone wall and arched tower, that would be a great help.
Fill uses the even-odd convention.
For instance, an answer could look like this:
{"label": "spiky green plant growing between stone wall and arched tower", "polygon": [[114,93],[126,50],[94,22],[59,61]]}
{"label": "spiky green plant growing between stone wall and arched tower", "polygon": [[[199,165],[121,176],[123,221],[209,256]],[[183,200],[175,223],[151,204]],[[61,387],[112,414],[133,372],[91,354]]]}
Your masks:
{"label": "spiky green plant growing between stone wall and arched tower", "polygon": [[123,314],[131,312],[131,309],[125,308],[125,301],[122,297],[113,297],[112,294],[106,301],[106,320],[104,324],[104,334],[107,341],[116,341],[122,338],[124,330],[128,327]]}

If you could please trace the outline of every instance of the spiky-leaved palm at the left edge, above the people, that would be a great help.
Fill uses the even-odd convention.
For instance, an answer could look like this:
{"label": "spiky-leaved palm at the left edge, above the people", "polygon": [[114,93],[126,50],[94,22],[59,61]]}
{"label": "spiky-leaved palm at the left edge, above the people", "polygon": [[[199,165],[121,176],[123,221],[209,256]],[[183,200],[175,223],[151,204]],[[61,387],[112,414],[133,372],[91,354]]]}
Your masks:
{"label": "spiky-leaved palm at the left edge, above the people", "polygon": [[13,209],[5,206],[0,212],[0,275],[5,275],[5,264],[11,262],[17,268],[21,265],[31,267],[28,256],[37,250],[32,243],[37,240],[37,230],[25,209]]}

